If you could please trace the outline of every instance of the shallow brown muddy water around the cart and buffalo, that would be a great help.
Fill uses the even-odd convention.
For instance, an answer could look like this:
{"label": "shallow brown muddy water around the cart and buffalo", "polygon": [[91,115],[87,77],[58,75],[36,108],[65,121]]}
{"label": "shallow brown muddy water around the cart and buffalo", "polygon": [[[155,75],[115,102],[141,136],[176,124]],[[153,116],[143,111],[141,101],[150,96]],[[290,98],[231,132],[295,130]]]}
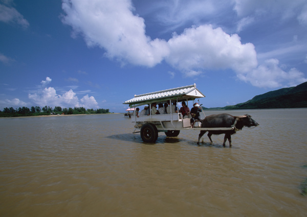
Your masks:
{"label": "shallow brown muddy water around the cart and buffalo", "polygon": [[145,144],[123,114],[0,119],[0,216],[306,216],[307,109],[227,112],[260,124],[232,148]]}

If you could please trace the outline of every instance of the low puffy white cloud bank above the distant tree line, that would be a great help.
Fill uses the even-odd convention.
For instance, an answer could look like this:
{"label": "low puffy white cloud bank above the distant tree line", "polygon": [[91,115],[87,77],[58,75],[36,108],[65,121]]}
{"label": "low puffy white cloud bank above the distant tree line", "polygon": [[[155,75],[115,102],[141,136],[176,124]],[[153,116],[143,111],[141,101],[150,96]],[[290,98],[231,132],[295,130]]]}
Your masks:
{"label": "low puffy white cloud bank above the distant tree line", "polygon": [[[52,79],[46,78],[46,81],[42,81],[43,85],[51,82]],[[98,103],[94,97],[89,97],[88,94],[84,95],[80,100],[72,89],[63,94],[57,94],[54,87],[45,87],[43,89],[38,89],[33,93],[28,94],[29,99],[39,106],[60,106],[63,108],[67,107],[84,107],[88,108],[98,108]]]}

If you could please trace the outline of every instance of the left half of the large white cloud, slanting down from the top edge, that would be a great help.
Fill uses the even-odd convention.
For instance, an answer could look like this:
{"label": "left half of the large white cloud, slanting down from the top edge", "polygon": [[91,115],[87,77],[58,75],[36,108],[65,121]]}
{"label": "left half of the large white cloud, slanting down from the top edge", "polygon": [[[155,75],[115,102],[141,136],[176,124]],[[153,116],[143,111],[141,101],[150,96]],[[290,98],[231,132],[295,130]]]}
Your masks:
{"label": "left half of the large white cloud, slanting down from the top edge", "polygon": [[108,58],[151,67],[168,55],[165,40],[145,35],[144,19],[132,13],[128,0],[64,0],[62,9],[67,14],[62,21],[72,26],[73,36],[81,34],[87,46],[105,49]]}

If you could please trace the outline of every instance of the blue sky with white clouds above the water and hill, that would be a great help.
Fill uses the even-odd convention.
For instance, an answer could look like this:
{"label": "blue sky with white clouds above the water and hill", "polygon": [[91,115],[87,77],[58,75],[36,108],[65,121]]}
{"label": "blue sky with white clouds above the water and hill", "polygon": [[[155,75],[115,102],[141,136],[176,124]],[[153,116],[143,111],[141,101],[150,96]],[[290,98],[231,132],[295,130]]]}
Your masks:
{"label": "blue sky with white clouds above the water and hill", "polygon": [[104,108],[196,83],[205,107],[307,81],[305,0],[0,0],[0,109]]}

